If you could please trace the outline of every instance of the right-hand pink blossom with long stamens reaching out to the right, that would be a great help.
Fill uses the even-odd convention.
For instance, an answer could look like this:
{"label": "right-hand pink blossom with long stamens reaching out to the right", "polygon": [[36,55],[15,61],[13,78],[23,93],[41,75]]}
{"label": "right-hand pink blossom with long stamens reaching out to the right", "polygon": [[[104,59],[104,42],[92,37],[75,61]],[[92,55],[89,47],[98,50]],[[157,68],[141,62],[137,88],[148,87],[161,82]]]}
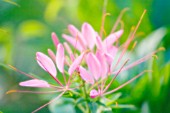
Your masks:
{"label": "right-hand pink blossom with long stamens reaching out to the right", "polygon": [[[97,96],[104,96],[110,93],[113,93],[117,91],[118,89],[124,87],[125,85],[131,83],[136,78],[143,75],[145,72],[150,72],[150,70],[145,70],[138,75],[136,75],[134,78],[130,79],[129,81],[125,82],[124,84],[120,85],[118,88],[108,91],[109,87],[115,80],[115,78],[121,73],[122,71],[128,70],[130,68],[133,68],[134,66],[148,60],[151,58],[156,52],[158,52],[160,49],[153,51],[152,53],[142,57],[139,60],[136,60],[135,62],[131,64],[127,64],[130,58],[127,58],[126,60],[123,60],[124,55],[126,54],[126,51],[131,44],[131,42],[134,40],[135,33],[141,23],[141,20],[143,18],[143,15],[141,16],[141,19],[139,20],[137,26],[135,27],[134,31],[131,33],[130,37],[126,40],[126,42],[123,44],[123,47],[117,47],[114,46],[114,42],[120,38],[120,36],[123,33],[123,30],[119,30],[115,33],[111,33],[104,41],[102,41],[102,38],[98,35],[96,35],[95,38],[95,44],[96,44],[96,50],[91,50],[90,53],[86,56],[86,64],[88,68],[79,67],[80,76],[82,79],[91,84],[90,88],[90,97],[95,98]],[[83,28],[83,27],[82,27]],[[78,32],[79,33],[79,32]],[[84,37],[87,38],[87,37]],[[115,59],[115,56],[117,55],[117,51],[120,50],[120,55],[118,56],[118,59]],[[113,64],[115,62],[115,64]],[[121,62],[124,62],[121,68],[116,70],[118,65],[121,64]],[[108,84],[106,84],[106,81],[108,80],[108,76],[114,75],[114,77],[110,80]],[[93,89],[93,88],[97,88]]]}

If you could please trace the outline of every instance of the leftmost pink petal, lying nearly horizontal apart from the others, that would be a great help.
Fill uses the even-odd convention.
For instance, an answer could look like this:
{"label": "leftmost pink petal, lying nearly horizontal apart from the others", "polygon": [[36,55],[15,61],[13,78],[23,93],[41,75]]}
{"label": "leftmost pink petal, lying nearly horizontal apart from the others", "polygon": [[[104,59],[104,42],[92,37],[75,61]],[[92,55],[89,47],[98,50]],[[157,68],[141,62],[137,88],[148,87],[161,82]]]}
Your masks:
{"label": "leftmost pink petal, lying nearly horizontal apart from the others", "polygon": [[46,82],[44,80],[38,80],[38,79],[32,79],[32,80],[20,82],[19,85],[25,86],[25,87],[40,87],[40,88],[50,87],[48,82]]}

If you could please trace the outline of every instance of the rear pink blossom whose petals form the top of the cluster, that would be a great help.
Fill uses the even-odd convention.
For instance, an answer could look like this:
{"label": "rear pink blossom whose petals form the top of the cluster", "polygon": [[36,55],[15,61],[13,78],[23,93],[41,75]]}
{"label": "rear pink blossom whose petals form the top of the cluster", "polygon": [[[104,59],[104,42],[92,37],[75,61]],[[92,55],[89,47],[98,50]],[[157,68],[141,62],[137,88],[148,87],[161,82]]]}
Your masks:
{"label": "rear pink blossom whose petals form the top of the cluster", "polygon": [[106,60],[109,64],[112,63],[114,56],[116,55],[118,48],[113,44],[121,37],[123,30],[119,30],[115,33],[111,33],[102,41],[101,37],[93,29],[93,27],[84,23],[82,25],[81,32],[73,25],[68,26],[68,30],[72,36],[63,34],[63,38],[69,42],[74,48],[80,52],[90,49],[95,51],[94,47],[97,46],[97,50],[102,51],[105,54]]}

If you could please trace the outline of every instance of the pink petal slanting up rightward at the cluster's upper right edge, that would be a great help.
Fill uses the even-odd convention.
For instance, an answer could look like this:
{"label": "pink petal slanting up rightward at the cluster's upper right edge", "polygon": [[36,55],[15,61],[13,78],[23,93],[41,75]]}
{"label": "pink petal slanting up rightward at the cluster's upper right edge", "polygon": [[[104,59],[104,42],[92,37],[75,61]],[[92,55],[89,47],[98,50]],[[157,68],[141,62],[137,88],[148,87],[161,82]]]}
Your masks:
{"label": "pink petal slanting up rightward at the cluster's upper right edge", "polygon": [[110,34],[105,40],[104,44],[107,46],[112,46],[115,41],[117,41],[121,35],[123,34],[123,30],[119,30],[115,33]]}

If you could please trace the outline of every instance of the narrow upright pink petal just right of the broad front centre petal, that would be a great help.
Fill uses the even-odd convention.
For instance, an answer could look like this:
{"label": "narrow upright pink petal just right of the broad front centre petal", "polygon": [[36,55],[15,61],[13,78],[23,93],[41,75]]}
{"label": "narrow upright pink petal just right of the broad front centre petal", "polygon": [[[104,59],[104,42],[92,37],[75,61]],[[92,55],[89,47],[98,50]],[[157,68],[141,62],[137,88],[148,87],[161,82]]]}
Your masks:
{"label": "narrow upright pink petal just right of the broad front centre petal", "polygon": [[106,58],[101,51],[97,51],[96,57],[98,58],[100,65],[102,66],[101,77],[105,78],[109,69],[108,64],[106,62]]}

